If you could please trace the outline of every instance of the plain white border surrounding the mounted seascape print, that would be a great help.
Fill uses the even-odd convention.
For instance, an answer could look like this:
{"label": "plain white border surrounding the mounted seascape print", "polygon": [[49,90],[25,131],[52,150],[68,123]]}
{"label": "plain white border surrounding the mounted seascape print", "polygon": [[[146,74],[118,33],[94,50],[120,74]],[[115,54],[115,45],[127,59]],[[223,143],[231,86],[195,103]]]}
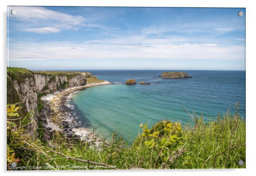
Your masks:
{"label": "plain white border surrounding the mounted seascape print", "polygon": [[[233,8],[246,8],[246,169],[208,169],[208,170],[77,170],[77,171],[9,171],[6,173],[6,65],[7,65],[7,41],[6,41],[6,18],[7,18],[7,5],[44,5],[44,6],[147,6],[147,7],[233,7]],[[45,175],[46,172],[49,175],[54,175],[56,173],[61,173],[63,176],[68,175],[72,172],[80,174],[90,174],[94,175],[96,173],[105,175],[131,175],[131,174],[146,174],[146,175],[156,175],[156,174],[186,174],[189,176],[199,176],[205,175],[215,176],[219,174],[232,174],[232,175],[251,175],[250,173],[256,173],[256,167],[254,166],[256,159],[255,152],[255,125],[256,115],[254,111],[255,104],[255,41],[256,41],[256,6],[253,5],[253,1],[245,0],[1,0],[1,80],[2,84],[0,86],[1,92],[1,164],[0,168],[4,174],[8,175],[34,175],[41,174]]]}

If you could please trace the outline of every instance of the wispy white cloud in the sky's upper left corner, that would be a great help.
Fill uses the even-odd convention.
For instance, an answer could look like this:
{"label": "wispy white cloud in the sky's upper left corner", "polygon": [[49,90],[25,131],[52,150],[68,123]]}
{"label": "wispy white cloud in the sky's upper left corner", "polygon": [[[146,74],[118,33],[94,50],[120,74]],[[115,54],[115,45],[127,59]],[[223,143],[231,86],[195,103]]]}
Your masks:
{"label": "wispy white cloud in the sky's upper left corner", "polygon": [[[15,9],[17,14],[11,15],[11,9]],[[35,6],[9,6],[9,18],[17,21],[18,29],[37,33],[57,33],[63,29],[77,29],[85,22],[82,16]]]}

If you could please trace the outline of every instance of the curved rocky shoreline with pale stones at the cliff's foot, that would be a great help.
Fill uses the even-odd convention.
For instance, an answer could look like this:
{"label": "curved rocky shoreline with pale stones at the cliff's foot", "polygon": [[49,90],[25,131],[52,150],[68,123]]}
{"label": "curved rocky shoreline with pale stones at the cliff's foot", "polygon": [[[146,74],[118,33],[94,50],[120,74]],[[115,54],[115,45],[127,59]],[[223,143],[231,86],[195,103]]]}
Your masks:
{"label": "curved rocky shoreline with pale stones at the cliff's foot", "polygon": [[93,136],[92,132],[88,130],[89,124],[78,120],[77,116],[80,112],[75,110],[69,102],[77,91],[107,84],[112,83],[108,81],[90,83],[43,96],[41,98],[44,101],[42,114],[46,119],[45,126],[46,133],[48,133],[46,134],[48,139],[45,140],[50,140],[56,131],[61,131],[65,134],[66,139],[84,140],[85,142],[91,142],[94,139],[96,145],[100,143],[100,138],[95,134]]}

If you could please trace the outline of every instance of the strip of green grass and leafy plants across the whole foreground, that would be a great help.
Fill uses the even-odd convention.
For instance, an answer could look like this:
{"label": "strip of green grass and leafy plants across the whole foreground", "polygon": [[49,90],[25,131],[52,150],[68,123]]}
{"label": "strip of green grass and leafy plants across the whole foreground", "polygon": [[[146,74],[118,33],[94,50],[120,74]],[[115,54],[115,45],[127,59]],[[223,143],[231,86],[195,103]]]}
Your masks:
{"label": "strip of green grass and leafy plants across the whole foreground", "polygon": [[19,110],[7,106],[8,170],[245,168],[245,121],[237,112],[207,123],[203,115],[191,115],[193,126],[140,124],[142,134],[131,145],[114,132],[95,147],[93,141],[65,141],[59,132],[43,143],[28,130],[31,114],[20,117]]}

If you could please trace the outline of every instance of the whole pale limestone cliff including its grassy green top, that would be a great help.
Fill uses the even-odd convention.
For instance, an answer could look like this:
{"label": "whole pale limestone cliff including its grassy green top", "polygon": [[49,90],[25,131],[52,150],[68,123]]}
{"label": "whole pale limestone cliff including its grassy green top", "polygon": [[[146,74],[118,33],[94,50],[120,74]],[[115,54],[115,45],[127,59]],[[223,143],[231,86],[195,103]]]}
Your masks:
{"label": "whole pale limestone cliff including its grassy green top", "polygon": [[39,116],[37,107],[40,97],[64,88],[86,84],[86,78],[92,77],[87,72],[33,72],[28,69],[7,68],[7,104],[20,104],[21,115],[32,112],[31,118]]}

